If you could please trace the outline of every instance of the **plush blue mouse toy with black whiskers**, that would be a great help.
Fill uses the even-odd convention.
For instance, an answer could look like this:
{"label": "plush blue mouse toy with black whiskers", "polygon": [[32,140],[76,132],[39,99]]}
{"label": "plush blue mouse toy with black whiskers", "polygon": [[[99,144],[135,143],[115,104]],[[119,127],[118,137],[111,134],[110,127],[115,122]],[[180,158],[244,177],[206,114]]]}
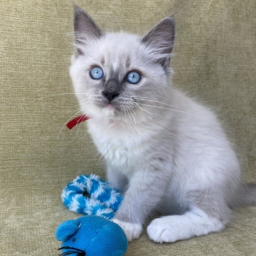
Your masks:
{"label": "plush blue mouse toy with black whiskers", "polygon": [[128,249],[123,229],[96,215],[64,221],[55,237],[62,241],[59,256],[124,256]]}

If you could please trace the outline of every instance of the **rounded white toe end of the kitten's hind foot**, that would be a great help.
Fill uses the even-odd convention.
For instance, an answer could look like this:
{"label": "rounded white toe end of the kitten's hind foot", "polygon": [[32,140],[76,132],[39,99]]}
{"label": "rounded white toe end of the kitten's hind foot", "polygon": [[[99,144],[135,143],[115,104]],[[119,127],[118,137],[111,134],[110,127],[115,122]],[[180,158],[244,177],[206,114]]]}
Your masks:
{"label": "rounded white toe end of the kitten's hind foot", "polygon": [[154,219],[147,227],[148,237],[157,243],[171,243],[184,239],[182,233],[175,223],[166,222],[165,217]]}

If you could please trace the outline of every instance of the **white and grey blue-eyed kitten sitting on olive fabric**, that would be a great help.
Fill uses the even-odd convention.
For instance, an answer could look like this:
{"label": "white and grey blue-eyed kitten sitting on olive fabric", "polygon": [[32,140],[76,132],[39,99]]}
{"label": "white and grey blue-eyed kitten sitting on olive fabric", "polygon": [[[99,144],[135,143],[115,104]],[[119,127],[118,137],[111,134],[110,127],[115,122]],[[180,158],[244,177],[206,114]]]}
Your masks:
{"label": "white and grey blue-eyed kitten sitting on olive fabric", "polygon": [[84,10],[74,13],[70,75],[108,181],[124,192],[113,221],[129,241],[155,212],[164,217],[149,238],[174,242],[222,230],[239,193],[256,201],[214,113],[171,86],[174,30],[165,18],[143,38],[104,34]]}

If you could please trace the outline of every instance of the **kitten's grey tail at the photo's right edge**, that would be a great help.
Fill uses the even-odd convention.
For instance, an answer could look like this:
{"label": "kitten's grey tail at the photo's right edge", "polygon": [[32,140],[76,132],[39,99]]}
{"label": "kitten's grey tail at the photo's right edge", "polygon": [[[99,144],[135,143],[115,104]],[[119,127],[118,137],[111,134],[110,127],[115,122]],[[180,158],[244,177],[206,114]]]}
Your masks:
{"label": "kitten's grey tail at the photo's right edge", "polygon": [[256,205],[256,184],[247,183],[241,187],[234,206]]}

